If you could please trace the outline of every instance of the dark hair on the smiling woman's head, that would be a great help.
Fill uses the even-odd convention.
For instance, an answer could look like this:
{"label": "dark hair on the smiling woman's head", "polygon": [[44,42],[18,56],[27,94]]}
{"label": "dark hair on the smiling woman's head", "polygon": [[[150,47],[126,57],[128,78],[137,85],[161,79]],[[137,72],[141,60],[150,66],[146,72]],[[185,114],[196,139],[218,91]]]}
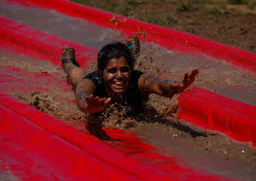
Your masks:
{"label": "dark hair on the smiling woman's head", "polygon": [[125,57],[127,64],[131,67],[131,70],[133,70],[135,59],[131,55],[130,49],[127,48],[125,43],[115,42],[104,46],[100,50],[97,57],[98,71],[102,73],[110,59],[119,59],[121,56]]}

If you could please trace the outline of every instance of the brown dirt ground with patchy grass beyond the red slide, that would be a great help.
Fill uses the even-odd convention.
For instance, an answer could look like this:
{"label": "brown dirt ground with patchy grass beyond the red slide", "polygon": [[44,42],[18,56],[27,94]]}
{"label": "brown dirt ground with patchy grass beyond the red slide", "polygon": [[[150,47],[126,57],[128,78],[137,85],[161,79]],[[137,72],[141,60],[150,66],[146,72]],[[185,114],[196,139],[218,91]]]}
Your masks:
{"label": "brown dirt ground with patchy grass beyond the red slide", "polygon": [[256,53],[256,0],[73,0]]}

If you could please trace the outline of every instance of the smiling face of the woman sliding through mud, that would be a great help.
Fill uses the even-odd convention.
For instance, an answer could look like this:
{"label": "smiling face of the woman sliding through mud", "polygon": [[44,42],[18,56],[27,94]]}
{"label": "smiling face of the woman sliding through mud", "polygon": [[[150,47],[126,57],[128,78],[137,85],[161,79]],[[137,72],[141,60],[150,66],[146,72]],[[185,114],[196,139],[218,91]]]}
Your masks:
{"label": "smiling face of the woman sliding through mud", "polygon": [[108,94],[123,95],[131,80],[131,68],[125,57],[110,59],[103,70],[103,78]]}

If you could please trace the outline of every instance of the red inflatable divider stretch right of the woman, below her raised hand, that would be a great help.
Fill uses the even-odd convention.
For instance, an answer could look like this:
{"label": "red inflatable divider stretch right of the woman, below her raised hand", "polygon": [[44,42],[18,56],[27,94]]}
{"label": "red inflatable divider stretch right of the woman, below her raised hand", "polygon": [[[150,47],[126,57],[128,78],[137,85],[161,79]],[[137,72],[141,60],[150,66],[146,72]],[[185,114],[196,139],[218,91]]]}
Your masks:
{"label": "red inflatable divider stretch right of the woman, below her raised hand", "polygon": [[256,146],[256,108],[202,88],[192,88],[178,98],[177,117],[232,139]]}

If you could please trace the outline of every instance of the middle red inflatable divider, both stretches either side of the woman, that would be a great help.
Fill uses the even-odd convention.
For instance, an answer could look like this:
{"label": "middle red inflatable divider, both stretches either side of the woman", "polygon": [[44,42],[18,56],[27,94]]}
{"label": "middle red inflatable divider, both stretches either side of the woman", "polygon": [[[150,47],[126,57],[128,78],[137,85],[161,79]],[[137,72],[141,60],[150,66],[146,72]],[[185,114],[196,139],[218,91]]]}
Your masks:
{"label": "middle red inflatable divider, both stretches either side of the woman", "polygon": [[[32,29],[1,16],[0,20],[0,25],[2,25],[0,26],[0,35],[5,36],[0,38],[0,46],[15,48],[23,54],[37,58],[45,57],[50,62],[60,65],[60,60],[56,57],[60,56],[57,53],[61,54],[61,43],[64,43],[75,48],[78,47],[81,65],[94,61],[90,57],[90,48]],[[31,33],[29,37],[26,36],[27,32]],[[59,42],[60,44],[58,44]],[[41,51],[42,49],[44,51]],[[92,54],[95,55],[96,50],[92,51]],[[83,52],[88,53],[89,59],[86,54],[81,54]],[[239,141],[251,141],[253,146],[256,145],[255,134],[253,135],[256,130],[255,106],[228,99],[201,88],[194,88],[180,97],[179,107],[178,117],[185,121],[226,133],[230,138]]]}

